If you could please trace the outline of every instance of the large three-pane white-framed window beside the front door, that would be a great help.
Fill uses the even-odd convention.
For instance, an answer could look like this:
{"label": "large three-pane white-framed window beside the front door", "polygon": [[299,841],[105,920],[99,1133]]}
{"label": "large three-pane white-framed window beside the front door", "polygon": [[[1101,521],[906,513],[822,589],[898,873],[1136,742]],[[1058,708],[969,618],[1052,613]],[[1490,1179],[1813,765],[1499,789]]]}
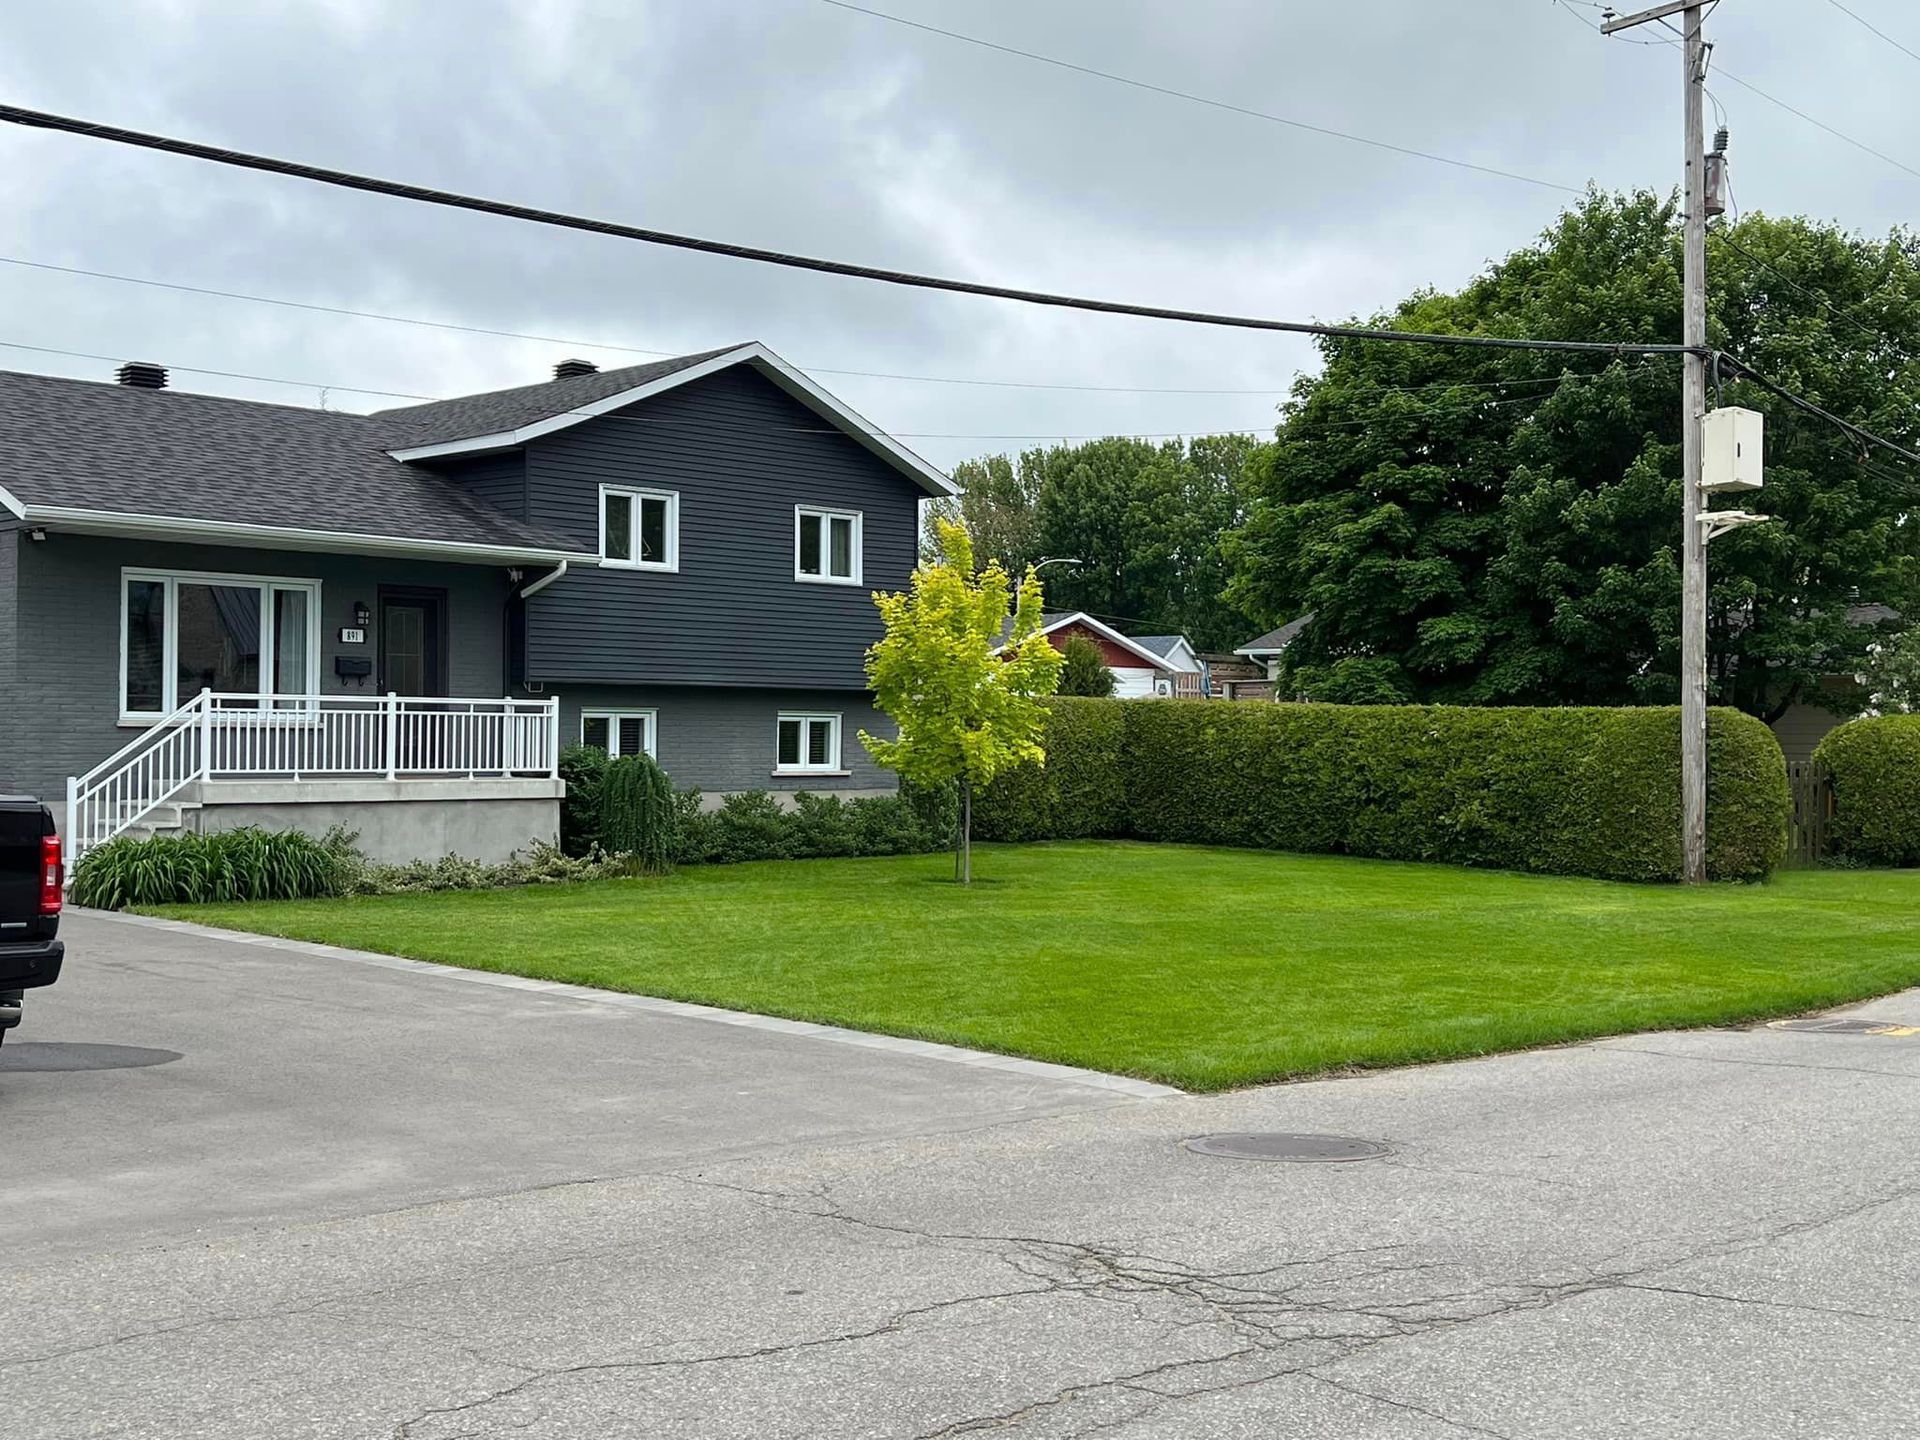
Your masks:
{"label": "large three-pane white-framed window beside the front door", "polygon": [[202,689],[313,695],[321,582],[121,570],[121,720],[157,720]]}

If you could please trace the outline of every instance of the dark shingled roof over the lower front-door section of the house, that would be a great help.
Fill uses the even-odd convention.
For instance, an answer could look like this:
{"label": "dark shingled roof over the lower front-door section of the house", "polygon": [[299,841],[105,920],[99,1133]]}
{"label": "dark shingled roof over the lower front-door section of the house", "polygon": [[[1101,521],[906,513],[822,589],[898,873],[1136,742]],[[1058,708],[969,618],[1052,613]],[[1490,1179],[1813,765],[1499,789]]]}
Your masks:
{"label": "dark shingled roof over the lower front-door section of the house", "polygon": [[386,444],[367,415],[0,371],[0,486],[23,505],[591,553]]}

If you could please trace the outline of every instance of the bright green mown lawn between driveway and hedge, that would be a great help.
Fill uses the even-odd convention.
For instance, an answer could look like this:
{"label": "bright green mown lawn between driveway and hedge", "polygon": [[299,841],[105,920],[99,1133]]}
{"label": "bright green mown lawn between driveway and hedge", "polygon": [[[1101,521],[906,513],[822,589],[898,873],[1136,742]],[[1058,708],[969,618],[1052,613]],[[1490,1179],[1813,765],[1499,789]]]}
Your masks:
{"label": "bright green mown lawn between driveway and hedge", "polygon": [[[1164,845],[161,914],[1225,1089],[1920,985],[1920,872],[1678,889]],[[557,1064],[564,1064],[559,1058]]]}

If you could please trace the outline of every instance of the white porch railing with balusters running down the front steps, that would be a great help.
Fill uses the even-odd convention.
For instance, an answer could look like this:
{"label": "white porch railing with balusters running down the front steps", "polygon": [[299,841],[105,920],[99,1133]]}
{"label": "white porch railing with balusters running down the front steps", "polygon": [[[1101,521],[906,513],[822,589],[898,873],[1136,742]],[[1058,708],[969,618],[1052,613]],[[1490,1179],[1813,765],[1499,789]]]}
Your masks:
{"label": "white porch railing with balusters running down the front steps", "polygon": [[559,697],[223,695],[200,691],[67,781],[77,862],[202,780],[559,776]]}

